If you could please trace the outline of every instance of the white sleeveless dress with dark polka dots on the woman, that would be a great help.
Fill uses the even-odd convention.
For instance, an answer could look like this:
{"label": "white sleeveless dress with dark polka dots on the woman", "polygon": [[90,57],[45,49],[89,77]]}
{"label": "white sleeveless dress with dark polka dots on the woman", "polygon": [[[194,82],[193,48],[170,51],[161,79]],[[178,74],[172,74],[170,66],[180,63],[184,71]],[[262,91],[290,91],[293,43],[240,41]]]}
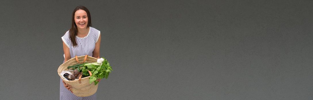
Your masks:
{"label": "white sleeveless dress with dark polka dots on the woman", "polygon": [[[69,53],[71,55],[71,58],[74,58],[75,55],[93,56],[95,44],[98,41],[99,36],[100,31],[93,27],[90,27],[87,36],[75,37],[77,45],[74,47],[69,38],[69,31],[67,31],[61,38],[64,41],[65,45],[69,47]],[[60,100],[96,100],[96,93],[88,97],[77,97],[64,87],[62,79],[60,79]]]}

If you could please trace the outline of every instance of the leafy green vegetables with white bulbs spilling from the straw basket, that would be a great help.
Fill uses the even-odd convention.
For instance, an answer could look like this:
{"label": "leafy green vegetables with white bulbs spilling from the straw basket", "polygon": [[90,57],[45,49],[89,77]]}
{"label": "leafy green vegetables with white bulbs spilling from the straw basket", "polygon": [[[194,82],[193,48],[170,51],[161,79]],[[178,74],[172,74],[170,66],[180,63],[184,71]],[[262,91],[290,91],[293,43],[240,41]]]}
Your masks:
{"label": "leafy green vegetables with white bulbs spilling from the straw basket", "polygon": [[89,78],[89,83],[95,82],[95,85],[98,84],[97,79],[105,78],[107,79],[109,73],[112,71],[112,66],[108,60],[104,57],[97,60],[95,63],[83,63],[83,64],[76,64],[73,66],[67,67],[68,69],[77,69],[78,72],[82,73],[82,77],[90,76],[88,70],[91,72],[91,76]]}

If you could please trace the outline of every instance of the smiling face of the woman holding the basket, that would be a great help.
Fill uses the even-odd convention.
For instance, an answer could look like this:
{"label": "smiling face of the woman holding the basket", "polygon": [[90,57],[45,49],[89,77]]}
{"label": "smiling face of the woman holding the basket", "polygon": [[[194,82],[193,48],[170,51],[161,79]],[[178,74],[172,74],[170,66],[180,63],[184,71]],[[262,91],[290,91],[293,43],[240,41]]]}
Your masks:
{"label": "smiling face of the woman holding the basket", "polygon": [[74,14],[74,21],[77,28],[86,29],[88,24],[87,12],[84,10],[78,10]]}

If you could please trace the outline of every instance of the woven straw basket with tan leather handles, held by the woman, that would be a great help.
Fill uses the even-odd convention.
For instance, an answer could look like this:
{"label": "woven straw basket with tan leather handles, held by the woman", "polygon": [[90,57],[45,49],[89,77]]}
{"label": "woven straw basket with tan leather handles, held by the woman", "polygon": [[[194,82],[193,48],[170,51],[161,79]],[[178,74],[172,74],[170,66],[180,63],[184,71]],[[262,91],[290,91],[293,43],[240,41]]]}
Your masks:
{"label": "woven straw basket with tan leather handles, held by the woman", "polygon": [[[60,73],[62,71],[68,71],[69,70],[69,69],[67,69],[68,66],[72,66],[75,64],[79,64],[79,63],[94,63],[94,62],[97,62],[97,60],[98,60],[97,58],[90,57],[88,55],[76,56],[75,58],[72,58],[72,59],[66,61],[65,63],[61,64],[59,69],[58,69],[58,74],[61,77]],[[73,94],[78,96],[78,97],[91,96],[97,92],[98,84],[97,85],[95,85],[95,83],[89,84],[89,78],[90,78],[90,76],[85,77],[85,78],[81,78],[80,81],[78,79],[73,80],[73,81],[69,81],[69,80],[63,79],[61,77],[61,79],[63,79],[65,83],[68,83],[69,85],[72,86]]]}

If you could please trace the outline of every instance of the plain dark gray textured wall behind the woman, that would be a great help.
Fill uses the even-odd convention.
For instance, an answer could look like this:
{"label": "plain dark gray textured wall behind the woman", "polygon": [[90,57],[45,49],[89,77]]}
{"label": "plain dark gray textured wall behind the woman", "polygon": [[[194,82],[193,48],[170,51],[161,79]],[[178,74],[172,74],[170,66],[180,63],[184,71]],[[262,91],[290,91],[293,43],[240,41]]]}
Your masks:
{"label": "plain dark gray textured wall behind the woman", "polygon": [[1,1],[1,99],[59,99],[78,5],[114,70],[97,99],[313,99],[310,0]]}

